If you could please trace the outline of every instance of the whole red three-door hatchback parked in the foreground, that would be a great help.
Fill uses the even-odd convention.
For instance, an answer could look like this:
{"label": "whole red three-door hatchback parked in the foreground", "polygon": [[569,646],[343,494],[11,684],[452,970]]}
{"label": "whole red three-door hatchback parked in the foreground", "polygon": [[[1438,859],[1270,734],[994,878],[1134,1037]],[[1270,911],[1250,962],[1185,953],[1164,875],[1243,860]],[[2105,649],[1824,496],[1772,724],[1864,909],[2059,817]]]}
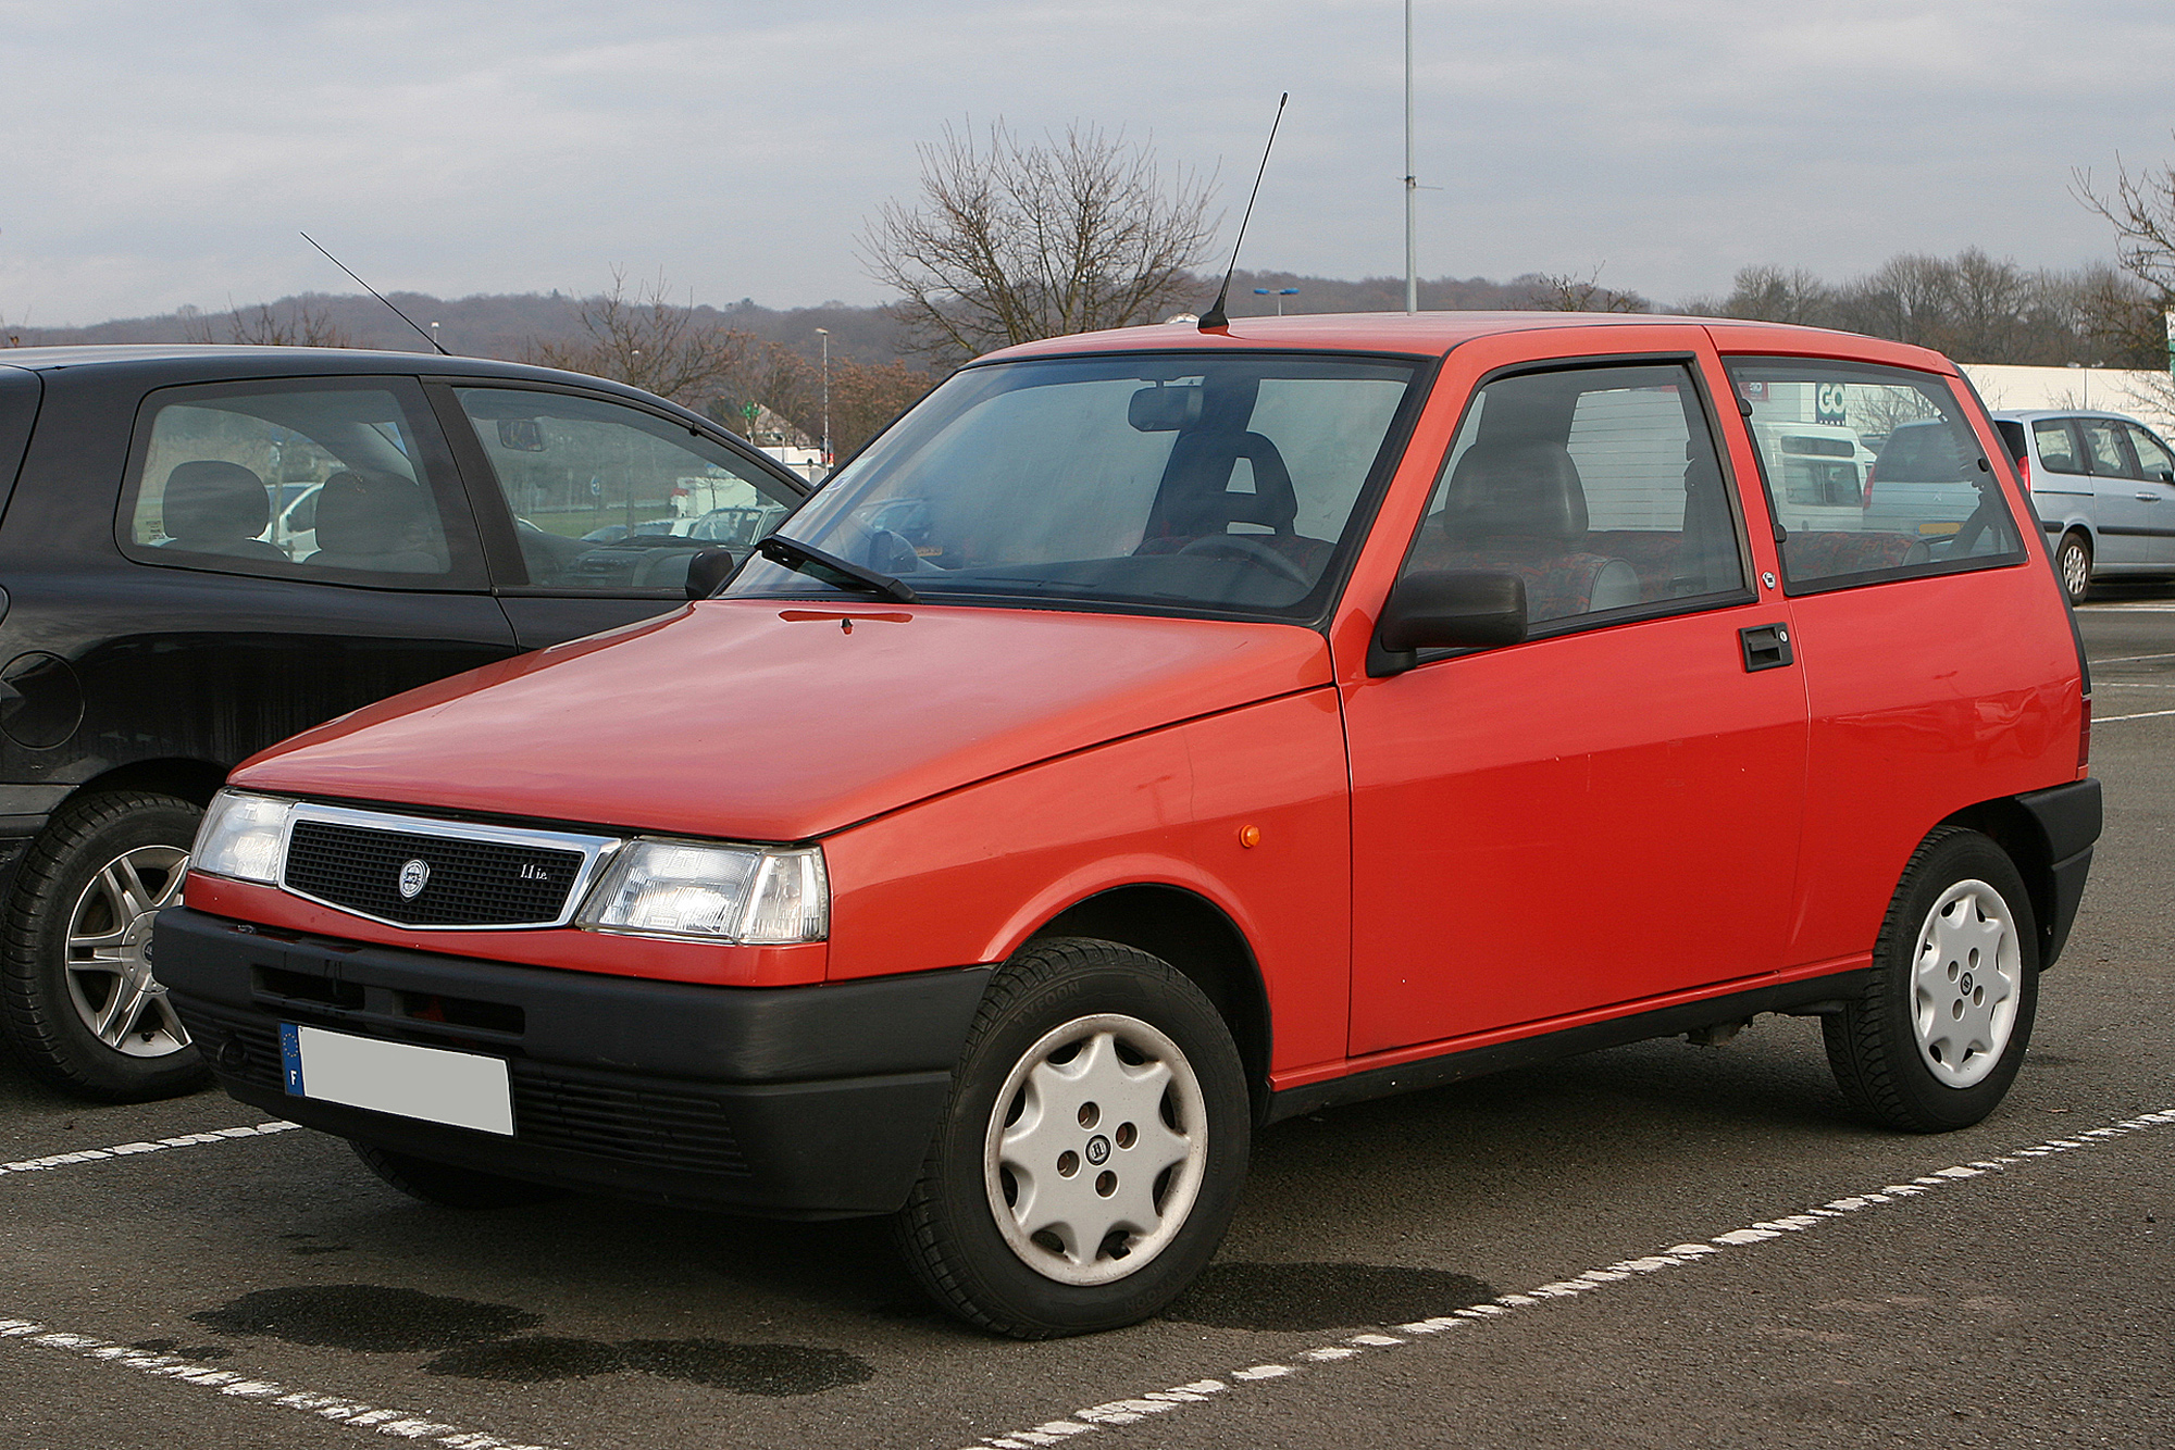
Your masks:
{"label": "whole red three-door hatchback parked in the foreground", "polygon": [[[1901,426],[1953,441],[1866,509]],[[1934,352],[1368,315],[1011,348],[716,598],[241,765],[159,976],[426,1200],[887,1213],[1127,1324],[1292,1113],[1755,1013],[1905,1130],[2016,1076],[2088,680]]]}

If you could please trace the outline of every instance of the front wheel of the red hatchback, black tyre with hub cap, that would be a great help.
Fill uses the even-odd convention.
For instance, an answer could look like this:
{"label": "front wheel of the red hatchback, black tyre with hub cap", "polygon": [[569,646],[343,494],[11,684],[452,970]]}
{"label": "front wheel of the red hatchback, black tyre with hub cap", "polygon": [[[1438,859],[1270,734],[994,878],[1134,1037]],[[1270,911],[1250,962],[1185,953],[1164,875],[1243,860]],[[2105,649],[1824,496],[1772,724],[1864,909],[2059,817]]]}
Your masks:
{"label": "front wheel of the red hatchback, black tyre with hub cap", "polygon": [[1248,1139],[1231,1030],[1183,972],[1035,941],[968,1028],[898,1248],[937,1304],[1000,1335],[1135,1324],[1216,1254]]}

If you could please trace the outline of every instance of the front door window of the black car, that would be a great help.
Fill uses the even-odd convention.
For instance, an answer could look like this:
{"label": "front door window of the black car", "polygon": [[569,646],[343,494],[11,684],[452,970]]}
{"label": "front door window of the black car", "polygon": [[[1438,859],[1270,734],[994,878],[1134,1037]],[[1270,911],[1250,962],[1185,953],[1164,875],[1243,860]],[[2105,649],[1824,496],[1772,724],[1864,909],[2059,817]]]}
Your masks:
{"label": "front door window of the black car", "polygon": [[642,409],[520,387],[455,396],[498,474],[529,583],[552,593],[681,589],[698,550],[753,548],[800,502]]}

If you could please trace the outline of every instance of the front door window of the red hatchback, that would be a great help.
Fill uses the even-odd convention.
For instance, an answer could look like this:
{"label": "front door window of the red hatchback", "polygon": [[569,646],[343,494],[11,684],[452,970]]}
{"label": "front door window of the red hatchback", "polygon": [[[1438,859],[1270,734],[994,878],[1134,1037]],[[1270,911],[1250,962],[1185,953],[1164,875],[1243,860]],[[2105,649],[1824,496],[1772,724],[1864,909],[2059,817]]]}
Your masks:
{"label": "front door window of the red hatchback", "polygon": [[1690,372],[1581,367],[1481,387],[1405,570],[1516,574],[1536,626],[1742,591]]}

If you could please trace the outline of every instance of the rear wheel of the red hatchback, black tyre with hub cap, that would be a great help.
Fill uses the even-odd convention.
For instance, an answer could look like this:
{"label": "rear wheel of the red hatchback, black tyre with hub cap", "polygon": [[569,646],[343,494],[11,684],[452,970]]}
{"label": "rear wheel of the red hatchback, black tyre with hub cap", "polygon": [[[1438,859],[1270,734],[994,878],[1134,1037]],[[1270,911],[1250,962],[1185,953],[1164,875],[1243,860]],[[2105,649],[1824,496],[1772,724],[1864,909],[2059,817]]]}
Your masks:
{"label": "rear wheel of the red hatchback, black tyre with hub cap", "polygon": [[2038,924],[2008,852],[1929,835],[1903,867],[1864,991],[1823,1017],[1862,1115],[1905,1133],[1979,1122],[2016,1080],[2038,1011]]}

